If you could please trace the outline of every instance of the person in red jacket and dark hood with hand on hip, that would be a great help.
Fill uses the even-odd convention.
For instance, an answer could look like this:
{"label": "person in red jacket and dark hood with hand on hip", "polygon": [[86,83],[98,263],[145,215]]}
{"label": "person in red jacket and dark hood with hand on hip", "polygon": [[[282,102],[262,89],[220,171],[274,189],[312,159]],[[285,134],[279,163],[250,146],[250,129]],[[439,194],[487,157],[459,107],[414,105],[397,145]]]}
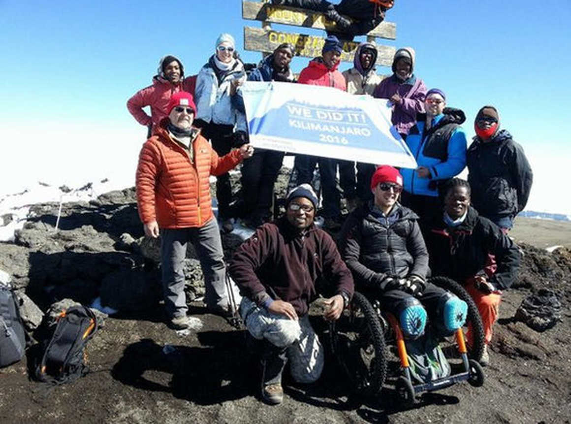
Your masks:
{"label": "person in red jacket and dark hood with hand on hip", "polygon": [[[129,113],[140,125],[148,127],[147,138],[154,134],[161,119],[168,115],[171,96],[179,91],[194,93],[195,83],[196,75],[184,78],[184,67],[179,58],[169,54],[160,59],[152,85],[137,91],[127,101]],[[146,106],[151,107],[151,116],[143,110]]]}

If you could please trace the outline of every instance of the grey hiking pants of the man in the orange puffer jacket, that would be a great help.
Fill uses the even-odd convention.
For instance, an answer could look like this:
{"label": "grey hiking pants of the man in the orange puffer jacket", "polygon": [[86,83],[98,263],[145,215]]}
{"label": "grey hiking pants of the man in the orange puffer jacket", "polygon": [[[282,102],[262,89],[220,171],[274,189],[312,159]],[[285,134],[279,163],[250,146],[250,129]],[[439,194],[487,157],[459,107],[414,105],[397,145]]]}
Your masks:
{"label": "grey hiking pants of the man in the orange puffer jacket", "polygon": [[164,305],[169,317],[186,315],[188,307],[184,295],[183,265],[186,258],[186,243],[191,242],[198,253],[208,307],[226,307],[226,266],[220,231],[215,218],[202,227],[160,230],[160,257]]}

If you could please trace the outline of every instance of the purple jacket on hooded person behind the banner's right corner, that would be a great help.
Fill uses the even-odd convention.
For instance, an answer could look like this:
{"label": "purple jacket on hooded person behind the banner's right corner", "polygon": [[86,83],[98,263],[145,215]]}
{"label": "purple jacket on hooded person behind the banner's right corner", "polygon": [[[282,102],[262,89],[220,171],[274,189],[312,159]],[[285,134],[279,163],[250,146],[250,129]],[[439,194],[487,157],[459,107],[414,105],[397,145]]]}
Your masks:
{"label": "purple jacket on hooded person behind the banner's right corner", "polygon": [[393,107],[392,123],[401,134],[415,126],[416,114],[424,113],[424,97],[427,94],[424,81],[412,75],[407,81],[400,83],[395,75],[383,79],[373,92],[377,99],[389,99],[395,93],[402,98],[398,105]]}

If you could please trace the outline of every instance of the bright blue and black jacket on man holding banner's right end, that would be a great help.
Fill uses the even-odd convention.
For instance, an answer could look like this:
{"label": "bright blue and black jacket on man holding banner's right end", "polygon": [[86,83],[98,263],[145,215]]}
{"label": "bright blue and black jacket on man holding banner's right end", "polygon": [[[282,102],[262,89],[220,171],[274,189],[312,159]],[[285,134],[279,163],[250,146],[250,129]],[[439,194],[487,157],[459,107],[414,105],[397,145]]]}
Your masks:
{"label": "bright blue and black jacket on man holding banner's right end", "polygon": [[411,194],[436,197],[439,181],[453,178],[466,166],[466,134],[460,124],[466,120],[460,109],[446,107],[425,130],[426,115],[420,114],[405,142],[419,166],[425,166],[430,178],[420,178],[413,169],[401,169],[403,189]]}

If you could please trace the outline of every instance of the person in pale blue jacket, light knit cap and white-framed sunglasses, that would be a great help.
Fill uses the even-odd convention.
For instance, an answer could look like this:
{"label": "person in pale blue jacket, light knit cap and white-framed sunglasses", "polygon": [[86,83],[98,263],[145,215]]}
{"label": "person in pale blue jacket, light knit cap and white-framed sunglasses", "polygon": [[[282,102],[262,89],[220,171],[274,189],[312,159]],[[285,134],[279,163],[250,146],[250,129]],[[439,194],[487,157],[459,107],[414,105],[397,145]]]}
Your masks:
{"label": "person in pale blue jacket, light knit cap and white-framed sunglasses", "polygon": [[[246,73],[235,55],[232,35],[220,34],[214,50],[196,78],[196,126],[202,128],[202,135],[210,139],[216,153],[223,156],[248,140],[246,115],[232,102],[237,87],[246,81]],[[234,229],[234,213],[230,209],[232,187],[228,174],[216,178],[216,199],[222,229],[230,233]]]}

